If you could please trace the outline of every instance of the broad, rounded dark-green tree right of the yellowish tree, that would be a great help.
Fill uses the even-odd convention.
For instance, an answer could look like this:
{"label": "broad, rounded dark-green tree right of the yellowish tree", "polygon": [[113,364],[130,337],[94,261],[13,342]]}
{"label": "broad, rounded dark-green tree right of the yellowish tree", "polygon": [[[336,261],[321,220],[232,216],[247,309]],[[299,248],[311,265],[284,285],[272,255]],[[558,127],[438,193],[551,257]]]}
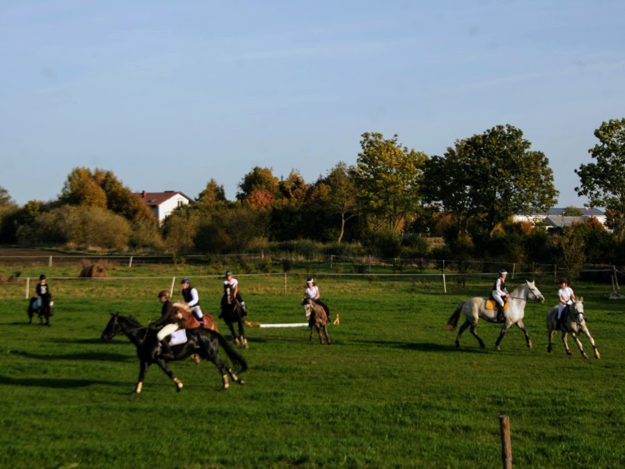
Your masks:
{"label": "broad, rounded dark-green tree right of the yellowish tree", "polygon": [[494,228],[519,212],[544,212],[558,191],[543,152],[512,125],[498,125],[484,134],[457,140],[445,157],[425,167],[423,198],[441,204],[456,218],[459,234],[472,218],[491,235]]}

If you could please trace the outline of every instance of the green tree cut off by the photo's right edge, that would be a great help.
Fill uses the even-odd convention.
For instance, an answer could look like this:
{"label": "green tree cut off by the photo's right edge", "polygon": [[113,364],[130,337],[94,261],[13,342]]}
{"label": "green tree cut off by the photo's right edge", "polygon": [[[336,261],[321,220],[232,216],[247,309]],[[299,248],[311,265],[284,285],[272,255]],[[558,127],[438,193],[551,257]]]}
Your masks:
{"label": "green tree cut off by the photo's right edge", "polygon": [[619,238],[625,237],[625,118],[603,122],[594,131],[599,143],[588,150],[594,163],[582,164],[575,173],[579,196],[587,196],[593,207],[610,211],[612,226]]}

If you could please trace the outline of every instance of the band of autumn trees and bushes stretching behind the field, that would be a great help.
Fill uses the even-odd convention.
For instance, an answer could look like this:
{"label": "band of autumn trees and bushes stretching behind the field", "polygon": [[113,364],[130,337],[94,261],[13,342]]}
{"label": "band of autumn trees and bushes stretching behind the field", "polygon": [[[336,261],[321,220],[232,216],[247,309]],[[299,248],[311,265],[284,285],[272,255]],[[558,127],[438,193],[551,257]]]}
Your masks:
{"label": "band of autumn trees and bushes stretching behind the field", "polygon": [[[278,178],[272,168],[255,167],[239,182],[236,200],[211,179],[162,225],[111,170],[74,168],[56,200],[19,207],[0,187],[0,242],[184,255],[287,248],[299,240],[300,248],[320,243],[338,255],[361,249],[388,257],[620,263],[625,118],[603,122],[594,135],[593,161],[575,169],[575,190],[606,207],[613,232],[588,221],[549,237],[512,223],[514,214],[553,207],[558,191],[545,154],[532,150],[521,129],[497,125],[433,156],[397,135],[366,132],[356,165],[339,161],[312,183],[296,169]],[[445,243],[432,244],[432,237]]]}

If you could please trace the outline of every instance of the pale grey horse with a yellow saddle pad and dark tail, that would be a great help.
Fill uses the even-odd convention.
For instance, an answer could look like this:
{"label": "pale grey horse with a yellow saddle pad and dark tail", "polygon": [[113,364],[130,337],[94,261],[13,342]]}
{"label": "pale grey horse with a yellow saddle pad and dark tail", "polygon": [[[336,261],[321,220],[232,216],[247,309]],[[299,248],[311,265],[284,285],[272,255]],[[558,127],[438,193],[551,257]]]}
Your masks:
{"label": "pale grey horse with a yellow saddle pad and dark tail", "polygon": [[[499,334],[499,337],[495,344],[496,350],[501,349],[499,344],[503,339],[505,333],[513,324],[519,326],[521,331],[523,331],[523,333],[525,334],[525,342],[528,345],[528,349],[532,348],[532,341],[530,340],[530,336],[528,335],[528,330],[523,324],[523,317],[525,315],[525,304],[528,302],[528,298],[530,297],[530,295],[534,296],[535,301],[539,301],[540,303],[543,303],[545,301],[545,297],[543,296],[543,294],[541,294],[539,289],[537,289],[533,281],[530,282],[528,280],[525,280],[525,283],[519,285],[519,287],[516,287],[516,289],[514,289],[510,294],[503,312],[503,328],[501,329],[501,333]],[[475,332],[475,328],[477,328],[477,321],[482,318],[484,319],[484,321],[488,322],[502,322],[498,321],[497,319],[496,305],[493,307],[495,309],[487,309],[486,301],[486,298],[480,296],[476,296],[475,298],[462,301],[447,321],[447,329],[449,331],[453,331],[458,325],[460,313],[464,312],[464,315],[466,317],[466,321],[464,321],[464,324],[460,326],[460,330],[458,331],[458,335],[456,337],[456,347],[460,347],[460,337],[469,326],[473,337],[477,339],[477,342],[480,342],[480,347],[482,347],[482,349],[486,347],[484,345],[484,341]]]}

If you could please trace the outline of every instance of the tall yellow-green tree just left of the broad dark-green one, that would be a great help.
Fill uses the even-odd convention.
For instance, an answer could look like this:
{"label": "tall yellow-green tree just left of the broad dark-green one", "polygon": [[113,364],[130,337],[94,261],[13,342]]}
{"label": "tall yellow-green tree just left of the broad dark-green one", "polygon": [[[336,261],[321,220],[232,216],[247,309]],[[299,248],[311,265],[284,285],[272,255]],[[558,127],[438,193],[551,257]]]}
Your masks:
{"label": "tall yellow-green tree just left of the broad dark-green one", "polygon": [[356,189],[374,230],[400,232],[419,206],[419,185],[427,155],[397,143],[397,135],[362,135]]}

